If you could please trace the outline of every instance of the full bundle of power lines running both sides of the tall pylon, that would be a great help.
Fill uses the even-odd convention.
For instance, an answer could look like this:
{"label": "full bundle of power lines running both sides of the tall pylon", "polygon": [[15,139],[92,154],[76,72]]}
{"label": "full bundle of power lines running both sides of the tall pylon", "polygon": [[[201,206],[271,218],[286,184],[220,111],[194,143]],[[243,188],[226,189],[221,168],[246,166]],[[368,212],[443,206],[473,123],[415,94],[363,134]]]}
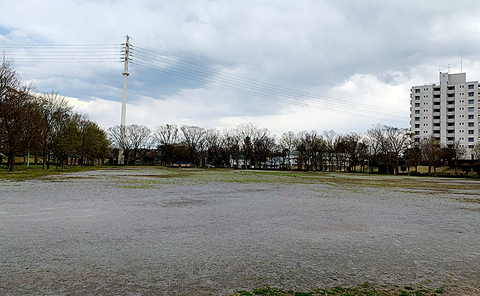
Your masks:
{"label": "full bundle of power lines running both sides of the tall pylon", "polygon": [[[257,79],[243,77],[234,73],[220,71],[202,64],[182,60],[163,53],[151,51],[143,47],[130,45],[132,56],[125,59],[122,53],[125,44],[42,44],[42,45],[0,45],[3,53],[8,53],[19,63],[49,62],[121,62],[125,60],[152,69],[190,79],[203,84],[217,86],[238,93],[262,97],[295,106],[339,112],[382,121],[403,122],[406,112],[371,106],[363,103],[337,99],[324,95],[296,90],[285,86],[262,82]],[[119,50],[120,49],[120,50]]]}

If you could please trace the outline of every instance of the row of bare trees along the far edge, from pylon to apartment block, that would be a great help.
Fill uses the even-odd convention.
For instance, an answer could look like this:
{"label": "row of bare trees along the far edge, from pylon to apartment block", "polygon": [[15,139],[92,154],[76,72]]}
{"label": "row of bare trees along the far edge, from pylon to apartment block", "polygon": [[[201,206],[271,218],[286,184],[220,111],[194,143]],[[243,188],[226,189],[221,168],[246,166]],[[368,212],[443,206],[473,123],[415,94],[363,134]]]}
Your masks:
{"label": "row of bare trees along the far edge, from pylon to apartment block", "polygon": [[[190,125],[120,126],[107,131],[113,147],[121,147],[124,164],[160,164],[219,168],[302,169],[307,171],[376,171],[398,174],[399,169],[448,162],[455,170],[466,149],[459,143],[440,145],[435,138],[412,141],[407,129],[374,125],[364,134],[286,132],[279,138],[254,123],[216,130]],[[475,157],[480,156],[476,145]],[[116,157],[118,150],[112,153]]]}

